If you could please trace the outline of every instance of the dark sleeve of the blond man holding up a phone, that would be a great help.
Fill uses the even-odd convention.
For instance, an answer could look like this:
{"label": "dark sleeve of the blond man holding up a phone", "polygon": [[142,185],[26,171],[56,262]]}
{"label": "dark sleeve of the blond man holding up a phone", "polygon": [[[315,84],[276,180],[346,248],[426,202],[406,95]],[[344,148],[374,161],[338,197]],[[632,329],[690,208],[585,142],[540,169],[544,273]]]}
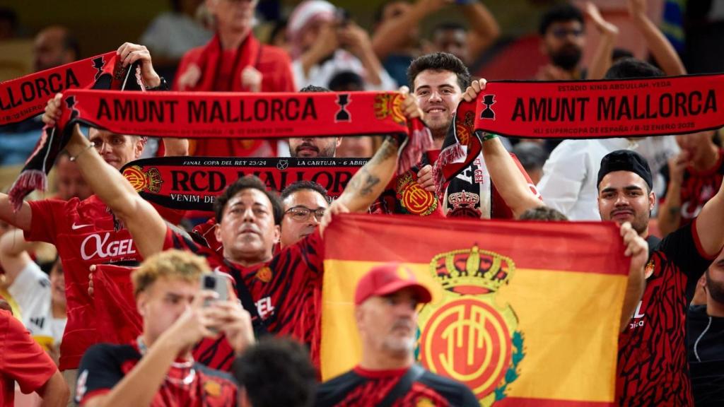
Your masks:
{"label": "dark sleeve of the blond man holding up a phone", "polygon": [[78,366],[76,403],[82,406],[89,398],[108,393],[123,379],[123,361],[134,358],[140,355],[130,345],[100,343],[88,348]]}

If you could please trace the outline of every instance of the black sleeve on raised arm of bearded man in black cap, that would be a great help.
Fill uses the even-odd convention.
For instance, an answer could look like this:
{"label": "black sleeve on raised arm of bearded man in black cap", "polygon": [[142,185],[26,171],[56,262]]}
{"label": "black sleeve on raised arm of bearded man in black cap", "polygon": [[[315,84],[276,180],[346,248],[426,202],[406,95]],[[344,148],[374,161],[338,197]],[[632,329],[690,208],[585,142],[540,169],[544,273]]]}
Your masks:
{"label": "black sleeve on raised arm of bearded man in black cap", "polygon": [[714,259],[704,253],[701,243],[699,243],[699,236],[696,235],[696,221],[697,219],[694,219],[694,222],[689,225],[671,232],[661,240],[657,248],[658,251],[665,253],[666,257],[673,261],[681,272],[686,274],[687,286],[696,284],[696,280],[702,277]]}

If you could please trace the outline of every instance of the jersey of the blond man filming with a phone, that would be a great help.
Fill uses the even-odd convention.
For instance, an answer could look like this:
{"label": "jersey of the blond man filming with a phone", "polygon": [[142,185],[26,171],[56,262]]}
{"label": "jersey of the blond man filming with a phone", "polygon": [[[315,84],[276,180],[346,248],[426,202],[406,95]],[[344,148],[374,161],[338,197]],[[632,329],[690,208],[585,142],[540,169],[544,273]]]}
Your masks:
{"label": "jersey of the blond man filming with a phone", "polygon": [[[109,393],[140,361],[138,345],[99,343],[88,348],[78,368],[76,402]],[[237,405],[231,375],[193,361],[174,361],[151,407],[222,407]]]}

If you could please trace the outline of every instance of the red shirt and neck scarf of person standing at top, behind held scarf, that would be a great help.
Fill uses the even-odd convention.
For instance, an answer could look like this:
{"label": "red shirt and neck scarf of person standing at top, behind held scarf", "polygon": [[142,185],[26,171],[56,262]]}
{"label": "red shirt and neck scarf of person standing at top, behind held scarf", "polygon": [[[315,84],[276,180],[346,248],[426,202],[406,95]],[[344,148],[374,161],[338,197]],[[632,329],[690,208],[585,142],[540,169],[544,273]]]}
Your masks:
{"label": "red shirt and neck scarf of person standing at top, behind held scarf", "polygon": [[[187,89],[178,87],[178,80],[174,81],[174,91],[197,91],[197,92],[248,92],[250,89],[242,85],[241,73],[246,67],[253,67],[261,70],[262,45],[254,37],[253,33],[244,38],[240,46],[232,51],[222,48],[221,38],[216,33],[209,43],[186,53],[179,64],[177,78],[195,66],[201,71],[201,77],[194,86]],[[264,72],[262,80],[262,92],[291,92],[294,91],[293,84],[287,88],[276,88],[271,86],[269,75],[277,75],[277,72]],[[290,74],[291,75],[291,74]],[[232,139],[216,138],[213,140],[191,140],[189,153],[193,156],[253,156],[264,155],[262,151],[276,151],[269,140],[261,139]],[[269,154],[266,154],[269,155]]]}

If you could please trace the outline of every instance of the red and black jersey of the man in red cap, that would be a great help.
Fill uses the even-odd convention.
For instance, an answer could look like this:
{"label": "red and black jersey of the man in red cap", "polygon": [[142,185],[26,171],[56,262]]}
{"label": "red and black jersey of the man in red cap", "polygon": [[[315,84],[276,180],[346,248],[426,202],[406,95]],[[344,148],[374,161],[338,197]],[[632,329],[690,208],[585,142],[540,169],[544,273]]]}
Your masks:
{"label": "red and black jersey of the man in red cap", "polygon": [[[317,388],[316,407],[376,406],[408,369],[367,370],[356,366]],[[425,370],[392,407],[480,407],[466,385]]]}

